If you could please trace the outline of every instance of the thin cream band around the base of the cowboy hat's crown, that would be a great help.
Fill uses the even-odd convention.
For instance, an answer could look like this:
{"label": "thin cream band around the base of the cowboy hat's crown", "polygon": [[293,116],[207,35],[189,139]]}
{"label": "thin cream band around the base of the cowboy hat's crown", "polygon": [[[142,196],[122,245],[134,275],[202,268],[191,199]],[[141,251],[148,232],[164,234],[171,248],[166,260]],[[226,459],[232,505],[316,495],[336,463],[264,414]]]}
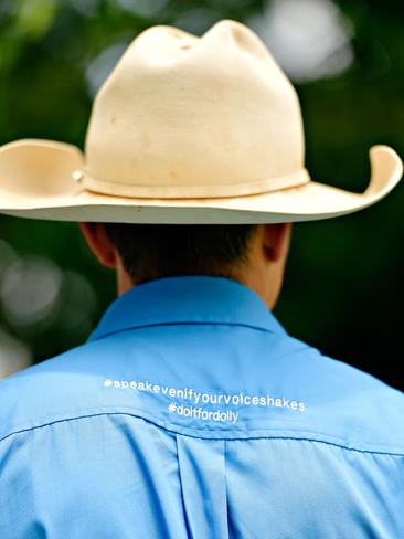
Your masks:
{"label": "thin cream band around the base of the cowboy hat's crown", "polygon": [[310,176],[306,169],[279,178],[225,186],[131,186],[128,183],[118,183],[94,178],[82,171],[75,171],[73,177],[88,191],[113,197],[147,199],[211,199],[243,197],[299,187],[310,181]]}

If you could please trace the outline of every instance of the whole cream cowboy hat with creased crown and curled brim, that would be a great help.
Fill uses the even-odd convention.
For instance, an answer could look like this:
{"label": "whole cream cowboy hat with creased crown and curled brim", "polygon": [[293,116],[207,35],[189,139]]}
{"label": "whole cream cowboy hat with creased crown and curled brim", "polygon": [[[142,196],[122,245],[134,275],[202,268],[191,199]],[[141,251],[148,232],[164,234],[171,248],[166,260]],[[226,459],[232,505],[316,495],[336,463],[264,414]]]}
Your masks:
{"label": "whole cream cowboy hat with creased crown and curled brim", "polygon": [[157,25],[98,92],[84,155],[18,140],[0,148],[0,212],[64,221],[272,223],[342,215],[400,181],[370,150],[362,194],[310,180],[299,102],[259,38],[223,20],[202,38]]}

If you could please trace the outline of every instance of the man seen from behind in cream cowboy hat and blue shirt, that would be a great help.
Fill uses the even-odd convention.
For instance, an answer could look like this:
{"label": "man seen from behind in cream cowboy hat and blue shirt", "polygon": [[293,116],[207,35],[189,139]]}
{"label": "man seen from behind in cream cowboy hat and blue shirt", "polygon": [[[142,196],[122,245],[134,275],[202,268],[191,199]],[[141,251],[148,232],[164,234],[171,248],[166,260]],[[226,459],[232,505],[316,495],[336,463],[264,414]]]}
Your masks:
{"label": "man seen from behind in cream cowboy hat and blue shirt", "polygon": [[155,27],[98,93],[85,160],[0,150],[0,208],[79,221],[119,297],[88,341],[0,384],[1,538],[404,537],[403,394],[288,336],[290,222],[384,197],[310,181],[261,40]]}

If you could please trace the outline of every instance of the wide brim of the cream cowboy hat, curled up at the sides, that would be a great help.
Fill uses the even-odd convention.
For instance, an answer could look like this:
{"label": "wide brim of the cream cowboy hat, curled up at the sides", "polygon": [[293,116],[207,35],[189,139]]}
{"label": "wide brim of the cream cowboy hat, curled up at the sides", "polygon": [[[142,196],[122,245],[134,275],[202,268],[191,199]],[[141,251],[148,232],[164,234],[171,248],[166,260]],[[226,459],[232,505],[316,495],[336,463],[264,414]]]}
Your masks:
{"label": "wide brim of the cream cowboy hat, curled up at the sides", "polygon": [[75,146],[18,140],[0,148],[0,213],[57,221],[163,224],[253,224],[329,219],[362,210],[400,181],[403,163],[387,146],[370,150],[371,181],[361,193],[310,181],[275,192],[232,198],[135,199],[84,190]]}

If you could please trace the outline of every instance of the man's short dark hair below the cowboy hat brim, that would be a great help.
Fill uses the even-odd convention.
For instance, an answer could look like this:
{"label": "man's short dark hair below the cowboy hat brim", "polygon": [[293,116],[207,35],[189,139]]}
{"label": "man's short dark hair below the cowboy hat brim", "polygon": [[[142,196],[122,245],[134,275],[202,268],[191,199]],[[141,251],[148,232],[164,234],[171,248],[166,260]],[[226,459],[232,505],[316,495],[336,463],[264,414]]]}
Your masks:
{"label": "man's short dark hair below the cowboy hat brim", "polygon": [[232,277],[257,225],[104,223],[136,284],[176,275]]}

